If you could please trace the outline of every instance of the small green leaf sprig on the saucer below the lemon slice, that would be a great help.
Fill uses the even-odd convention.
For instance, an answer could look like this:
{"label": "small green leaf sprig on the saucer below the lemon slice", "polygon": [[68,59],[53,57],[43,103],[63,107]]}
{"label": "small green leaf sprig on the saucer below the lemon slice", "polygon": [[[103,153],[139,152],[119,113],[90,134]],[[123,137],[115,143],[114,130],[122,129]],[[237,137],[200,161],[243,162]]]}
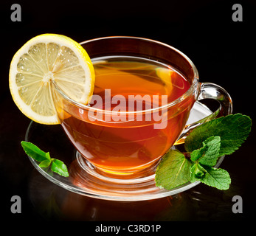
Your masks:
{"label": "small green leaf sprig on the saucer below the lemon slice", "polygon": [[41,168],[51,167],[51,170],[55,173],[58,173],[60,176],[69,177],[69,172],[66,165],[58,159],[51,158],[48,153],[45,153],[36,145],[31,142],[21,142],[27,156],[30,156],[35,161],[39,162],[38,166]]}

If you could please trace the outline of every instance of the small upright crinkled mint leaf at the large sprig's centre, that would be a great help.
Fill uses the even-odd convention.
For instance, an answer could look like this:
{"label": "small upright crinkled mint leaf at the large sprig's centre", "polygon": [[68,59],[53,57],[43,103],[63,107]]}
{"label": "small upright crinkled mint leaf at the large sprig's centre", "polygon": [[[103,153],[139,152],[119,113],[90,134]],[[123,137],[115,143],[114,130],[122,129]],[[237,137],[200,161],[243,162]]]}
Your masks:
{"label": "small upright crinkled mint leaf at the large sprig's centre", "polygon": [[211,136],[203,142],[203,147],[193,150],[193,152],[190,154],[191,161],[198,161],[200,164],[213,167],[218,161],[220,147],[221,137]]}

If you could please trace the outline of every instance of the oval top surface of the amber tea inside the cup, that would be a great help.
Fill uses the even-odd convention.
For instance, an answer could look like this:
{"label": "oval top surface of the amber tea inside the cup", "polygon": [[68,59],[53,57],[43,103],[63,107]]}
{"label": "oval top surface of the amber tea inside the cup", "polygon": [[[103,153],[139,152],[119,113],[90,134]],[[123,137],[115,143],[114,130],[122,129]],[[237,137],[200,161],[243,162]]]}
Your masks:
{"label": "oval top surface of the amber tea inside the cup", "polygon": [[[93,63],[96,76],[94,94],[103,98],[103,105],[105,105],[105,89],[111,90],[111,97],[121,95],[126,101],[131,95],[142,97],[146,95],[148,101],[145,102],[152,103],[153,95],[158,95],[157,105],[161,106],[162,95],[166,95],[167,103],[170,103],[190,87],[190,83],[175,69],[153,60],[118,57],[97,59]],[[115,105],[111,104],[111,108]],[[126,110],[128,106],[127,103]],[[134,111],[139,110],[134,108]]]}

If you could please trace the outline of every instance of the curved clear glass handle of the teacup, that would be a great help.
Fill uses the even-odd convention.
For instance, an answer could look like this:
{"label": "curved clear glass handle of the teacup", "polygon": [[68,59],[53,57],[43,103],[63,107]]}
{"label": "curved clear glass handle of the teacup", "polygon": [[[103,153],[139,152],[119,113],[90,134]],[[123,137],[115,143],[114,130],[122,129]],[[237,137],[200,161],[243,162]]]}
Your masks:
{"label": "curved clear glass handle of the teacup", "polygon": [[204,117],[203,119],[200,119],[196,122],[193,122],[190,125],[186,125],[181,133],[181,136],[179,136],[179,139],[176,141],[174,145],[184,143],[184,140],[186,139],[187,135],[191,131],[193,131],[193,128],[196,128],[196,126],[201,125],[204,122],[210,121],[211,119],[232,114],[232,99],[228,92],[221,86],[218,86],[215,83],[201,83],[198,101],[203,99],[217,100],[220,106],[216,111],[212,112],[212,114],[210,114],[209,116]]}

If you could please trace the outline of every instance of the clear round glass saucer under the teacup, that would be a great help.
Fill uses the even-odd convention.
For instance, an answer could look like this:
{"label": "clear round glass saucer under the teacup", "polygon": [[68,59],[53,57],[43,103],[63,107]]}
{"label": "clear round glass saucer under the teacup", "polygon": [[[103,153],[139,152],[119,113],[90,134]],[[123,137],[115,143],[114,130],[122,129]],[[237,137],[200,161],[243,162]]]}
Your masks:
{"label": "clear round glass saucer under the teacup", "polygon": [[[192,124],[210,116],[212,116],[212,111],[206,105],[196,102],[190,112],[187,123]],[[132,181],[129,179],[116,181],[114,178],[102,178],[102,176],[99,178],[93,168],[83,161],[80,153],[69,142],[60,125],[41,125],[36,122],[30,122],[25,140],[34,143],[41,150],[49,152],[52,158],[63,161],[68,167],[69,177],[59,176],[49,168],[41,168],[38,166],[38,162],[29,157],[39,173],[66,190],[91,198],[111,201],[143,201],[175,195],[200,183],[198,181],[189,182],[172,190],[164,190],[156,187],[154,172],[151,175],[133,179]],[[223,159],[224,156],[218,160],[217,167]]]}

